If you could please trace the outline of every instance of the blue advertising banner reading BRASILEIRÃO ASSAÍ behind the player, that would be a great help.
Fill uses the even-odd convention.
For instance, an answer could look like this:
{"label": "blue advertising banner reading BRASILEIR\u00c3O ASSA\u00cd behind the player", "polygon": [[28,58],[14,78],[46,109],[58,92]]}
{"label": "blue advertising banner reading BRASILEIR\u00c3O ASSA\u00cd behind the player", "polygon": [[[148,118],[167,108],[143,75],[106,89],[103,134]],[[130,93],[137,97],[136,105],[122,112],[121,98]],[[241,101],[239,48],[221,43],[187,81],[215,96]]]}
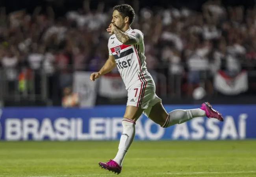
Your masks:
{"label": "blue advertising banner reading BRASILEIR\u00c3O ASSA\u00cd behind the player", "polygon": [[[194,109],[195,105],[166,105]],[[136,122],[135,140],[218,140],[256,138],[256,105],[214,105],[224,122],[194,118],[166,129],[142,115]],[[0,110],[0,139],[17,140],[119,140],[125,106],[97,106],[89,109],[46,107]]]}

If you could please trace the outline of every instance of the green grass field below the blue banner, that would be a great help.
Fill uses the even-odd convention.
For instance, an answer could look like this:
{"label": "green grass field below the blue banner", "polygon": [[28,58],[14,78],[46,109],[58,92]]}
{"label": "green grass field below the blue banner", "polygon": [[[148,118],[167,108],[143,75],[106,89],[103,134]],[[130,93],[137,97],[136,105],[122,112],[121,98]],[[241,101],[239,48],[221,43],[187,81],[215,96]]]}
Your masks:
{"label": "green grass field below the blue banner", "polygon": [[[119,142],[0,142],[0,177],[111,177]],[[256,177],[256,140],[134,141],[118,177]]]}

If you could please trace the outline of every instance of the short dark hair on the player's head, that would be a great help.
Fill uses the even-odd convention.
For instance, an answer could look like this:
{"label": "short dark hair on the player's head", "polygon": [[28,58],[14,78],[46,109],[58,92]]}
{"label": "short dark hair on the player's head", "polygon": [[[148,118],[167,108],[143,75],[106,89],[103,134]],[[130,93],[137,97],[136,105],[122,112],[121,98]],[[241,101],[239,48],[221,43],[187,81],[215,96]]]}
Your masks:
{"label": "short dark hair on the player's head", "polygon": [[113,9],[119,11],[122,18],[129,17],[129,24],[132,24],[135,18],[135,12],[132,6],[128,4],[121,4],[115,6]]}

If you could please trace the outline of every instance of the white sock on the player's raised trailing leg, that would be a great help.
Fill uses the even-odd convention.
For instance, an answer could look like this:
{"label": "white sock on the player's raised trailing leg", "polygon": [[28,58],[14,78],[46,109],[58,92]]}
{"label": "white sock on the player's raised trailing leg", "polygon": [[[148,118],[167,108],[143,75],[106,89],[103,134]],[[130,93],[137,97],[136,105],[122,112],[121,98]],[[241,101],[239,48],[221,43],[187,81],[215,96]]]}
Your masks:
{"label": "white sock on the player's raised trailing leg", "polygon": [[168,117],[162,127],[170,127],[174,124],[182,124],[195,117],[204,117],[206,113],[202,109],[176,109],[168,113]]}

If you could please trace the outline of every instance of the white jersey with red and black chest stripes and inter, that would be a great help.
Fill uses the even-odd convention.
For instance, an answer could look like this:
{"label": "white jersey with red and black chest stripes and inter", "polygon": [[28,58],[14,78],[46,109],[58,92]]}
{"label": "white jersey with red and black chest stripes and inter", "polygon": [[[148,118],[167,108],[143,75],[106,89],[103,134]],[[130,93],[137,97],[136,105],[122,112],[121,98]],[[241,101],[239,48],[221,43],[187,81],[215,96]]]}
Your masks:
{"label": "white jersey with red and black chest stripes and inter", "polygon": [[115,57],[115,62],[126,90],[129,90],[132,85],[139,85],[140,83],[146,85],[147,81],[152,79],[152,76],[146,67],[143,33],[140,30],[132,30],[131,28],[125,33],[136,37],[137,44],[122,44],[114,34],[109,37],[108,49],[109,55]]}

